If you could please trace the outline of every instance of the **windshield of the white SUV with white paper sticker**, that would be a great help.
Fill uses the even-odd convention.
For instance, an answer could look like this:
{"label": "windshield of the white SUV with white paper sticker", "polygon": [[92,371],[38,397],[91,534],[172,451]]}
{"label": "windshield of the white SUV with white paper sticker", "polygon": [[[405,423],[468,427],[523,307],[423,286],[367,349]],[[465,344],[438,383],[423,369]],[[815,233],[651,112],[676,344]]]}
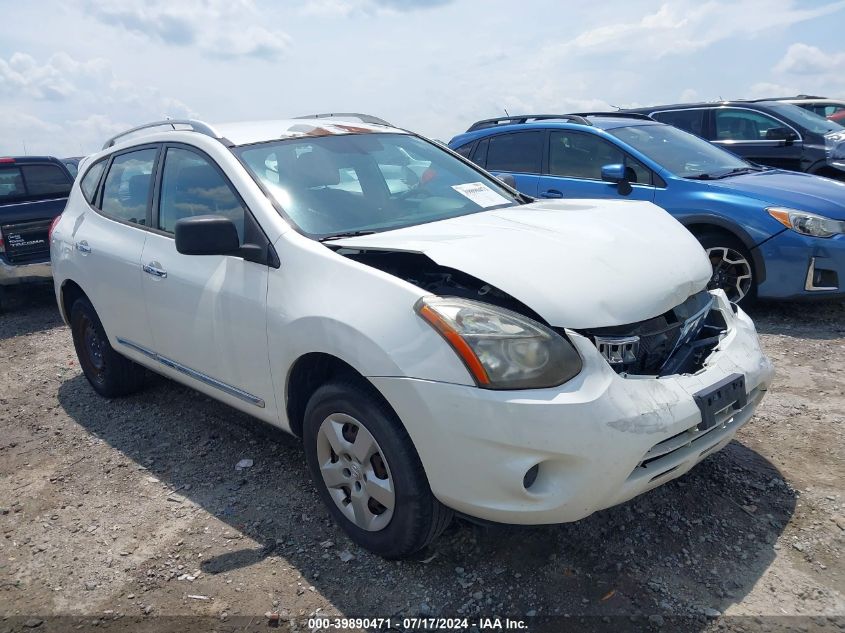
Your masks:
{"label": "windshield of the white SUV with white paper sticker", "polygon": [[287,217],[317,239],[518,203],[495,180],[408,134],[300,137],[235,153]]}

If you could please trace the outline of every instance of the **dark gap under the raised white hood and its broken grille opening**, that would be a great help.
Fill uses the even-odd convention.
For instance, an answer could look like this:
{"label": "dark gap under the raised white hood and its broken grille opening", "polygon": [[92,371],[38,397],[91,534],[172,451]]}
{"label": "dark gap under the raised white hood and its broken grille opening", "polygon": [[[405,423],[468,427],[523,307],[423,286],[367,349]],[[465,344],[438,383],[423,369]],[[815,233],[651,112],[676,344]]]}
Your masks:
{"label": "dark gap under the raised white hood and its broken grille opening", "polygon": [[[506,308],[554,327],[510,294],[460,270],[441,266],[420,253],[341,248],[339,254],[377,268],[441,297],[460,297]],[[699,371],[727,330],[706,290],[656,317],[626,325],[577,329],[593,342],[621,375],[670,376]]]}

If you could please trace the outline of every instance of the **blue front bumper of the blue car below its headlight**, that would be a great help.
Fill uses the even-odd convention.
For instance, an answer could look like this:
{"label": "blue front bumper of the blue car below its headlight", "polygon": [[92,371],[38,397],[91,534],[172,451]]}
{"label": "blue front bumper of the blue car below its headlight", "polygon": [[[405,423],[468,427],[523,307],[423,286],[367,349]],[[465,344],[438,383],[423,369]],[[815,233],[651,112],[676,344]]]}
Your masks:
{"label": "blue front bumper of the blue car below its headlight", "polygon": [[845,298],[845,235],[809,237],[792,230],[758,247],[766,261],[761,299]]}

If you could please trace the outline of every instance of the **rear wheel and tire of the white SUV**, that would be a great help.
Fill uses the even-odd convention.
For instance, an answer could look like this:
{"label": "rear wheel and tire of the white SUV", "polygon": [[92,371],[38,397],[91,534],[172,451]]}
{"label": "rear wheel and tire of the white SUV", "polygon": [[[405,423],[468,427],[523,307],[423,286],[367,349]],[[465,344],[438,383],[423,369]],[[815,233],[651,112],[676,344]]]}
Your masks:
{"label": "rear wheel and tire of the white SUV", "polygon": [[118,398],[141,390],[146,370],[109,344],[103,324],[87,298],[80,297],[71,307],[70,329],[79,366],[94,391],[106,398]]}

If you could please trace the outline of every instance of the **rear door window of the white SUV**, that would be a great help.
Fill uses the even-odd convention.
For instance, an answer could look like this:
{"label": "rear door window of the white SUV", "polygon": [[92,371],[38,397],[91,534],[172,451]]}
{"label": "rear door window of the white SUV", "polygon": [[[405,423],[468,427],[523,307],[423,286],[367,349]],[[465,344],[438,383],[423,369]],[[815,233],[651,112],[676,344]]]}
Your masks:
{"label": "rear door window of the white SUV", "polygon": [[103,187],[103,213],[135,224],[147,223],[155,148],[115,156]]}

